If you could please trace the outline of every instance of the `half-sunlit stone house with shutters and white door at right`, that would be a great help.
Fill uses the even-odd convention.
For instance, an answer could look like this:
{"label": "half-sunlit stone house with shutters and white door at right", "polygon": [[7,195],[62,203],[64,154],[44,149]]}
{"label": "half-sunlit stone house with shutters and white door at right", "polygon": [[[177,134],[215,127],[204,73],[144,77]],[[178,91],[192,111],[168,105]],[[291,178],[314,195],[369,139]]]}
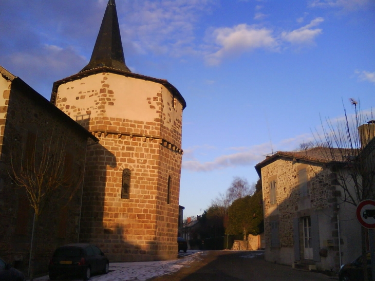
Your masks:
{"label": "half-sunlit stone house with shutters and white door at right", "polygon": [[277,152],[255,166],[263,185],[266,260],[337,271],[361,254],[355,207],[342,200],[337,161],[327,149]]}

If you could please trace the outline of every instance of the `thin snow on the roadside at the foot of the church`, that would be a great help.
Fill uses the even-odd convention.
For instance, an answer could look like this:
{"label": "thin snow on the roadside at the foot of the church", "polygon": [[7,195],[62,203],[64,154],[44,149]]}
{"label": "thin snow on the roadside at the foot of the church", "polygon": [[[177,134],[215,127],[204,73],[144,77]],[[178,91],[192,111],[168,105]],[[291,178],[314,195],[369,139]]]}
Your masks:
{"label": "thin snow on the roadside at the foot of the church", "polygon": [[[168,275],[175,273],[180,268],[193,263],[195,260],[200,260],[201,255],[204,254],[202,251],[188,251],[193,253],[190,255],[184,255],[182,258],[174,260],[162,260],[162,261],[143,261],[138,263],[110,263],[109,273],[104,275],[95,275],[90,280],[95,281],[145,281],[149,278]],[[40,278],[34,278],[35,281],[47,281],[48,276]],[[69,279],[71,281],[81,280],[81,278]]]}

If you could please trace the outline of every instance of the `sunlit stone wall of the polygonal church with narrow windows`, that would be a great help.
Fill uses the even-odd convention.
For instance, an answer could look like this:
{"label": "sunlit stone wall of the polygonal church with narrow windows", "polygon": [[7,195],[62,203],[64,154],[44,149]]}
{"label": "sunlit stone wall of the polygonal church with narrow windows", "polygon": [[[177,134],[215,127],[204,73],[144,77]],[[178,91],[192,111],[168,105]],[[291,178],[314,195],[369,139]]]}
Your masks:
{"label": "sunlit stone wall of the polygonal church with narrow windows", "polygon": [[100,140],[87,151],[80,241],[96,243],[111,261],[175,258],[180,102],[158,83],[105,72],[60,85],[56,104]]}

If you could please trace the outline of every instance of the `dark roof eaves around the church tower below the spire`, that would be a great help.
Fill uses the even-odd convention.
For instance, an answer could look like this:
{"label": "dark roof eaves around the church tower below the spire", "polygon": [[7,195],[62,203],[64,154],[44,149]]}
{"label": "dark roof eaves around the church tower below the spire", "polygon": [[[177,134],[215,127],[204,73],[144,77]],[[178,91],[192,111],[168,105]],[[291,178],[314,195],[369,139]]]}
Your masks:
{"label": "dark roof eaves around the church tower below the spire", "polygon": [[159,83],[159,84],[165,86],[168,90],[170,90],[172,92],[173,96],[177,97],[177,99],[182,104],[182,109],[185,109],[185,107],[186,107],[185,99],[182,97],[179,90],[175,86],[173,86],[170,82],[168,82],[167,80],[149,77],[149,76],[144,76],[142,74],[127,72],[127,71],[123,71],[123,70],[120,70],[120,69],[109,68],[109,67],[106,67],[106,66],[81,71],[81,72],[78,72],[77,74],[74,74],[74,75],[69,76],[67,78],[64,78],[62,80],[54,82],[53,88],[52,88],[52,93],[51,93],[51,102],[52,103],[55,102],[55,98],[56,98],[56,95],[57,95],[57,89],[61,84],[65,83],[65,82],[69,82],[69,81],[82,79],[82,78],[87,77],[89,75],[96,74],[96,73],[102,73],[102,72],[110,72],[110,73],[119,74],[119,75],[126,76],[126,77],[132,77],[132,78],[136,78],[136,79],[142,79],[142,80],[145,80],[145,81],[151,81],[151,82]]}

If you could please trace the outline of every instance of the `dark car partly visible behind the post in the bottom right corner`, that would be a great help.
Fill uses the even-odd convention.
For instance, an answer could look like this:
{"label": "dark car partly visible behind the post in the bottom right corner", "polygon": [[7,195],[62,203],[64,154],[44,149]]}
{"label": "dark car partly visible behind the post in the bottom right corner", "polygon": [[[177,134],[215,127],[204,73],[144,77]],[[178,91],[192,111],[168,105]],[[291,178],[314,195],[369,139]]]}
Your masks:
{"label": "dark car partly visible behind the post in the bottom right corner", "polygon": [[[371,255],[367,253],[367,272],[371,279]],[[362,255],[349,264],[343,265],[339,271],[340,281],[363,281]]]}

